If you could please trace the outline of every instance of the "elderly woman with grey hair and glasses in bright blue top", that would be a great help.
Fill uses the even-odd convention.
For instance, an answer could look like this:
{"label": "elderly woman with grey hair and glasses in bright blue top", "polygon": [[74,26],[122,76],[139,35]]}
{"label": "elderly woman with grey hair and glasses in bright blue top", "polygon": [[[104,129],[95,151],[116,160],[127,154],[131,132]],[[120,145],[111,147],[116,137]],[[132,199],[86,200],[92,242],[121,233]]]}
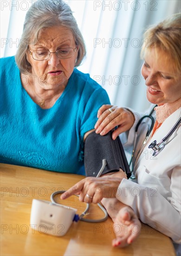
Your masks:
{"label": "elderly woman with grey hair and glasses in bright blue top", "polygon": [[[42,3],[42,1],[41,1]],[[62,0],[33,3],[19,49],[0,59],[1,162],[81,173],[84,135],[97,110],[109,104],[105,90],[78,67],[83,37]]]}

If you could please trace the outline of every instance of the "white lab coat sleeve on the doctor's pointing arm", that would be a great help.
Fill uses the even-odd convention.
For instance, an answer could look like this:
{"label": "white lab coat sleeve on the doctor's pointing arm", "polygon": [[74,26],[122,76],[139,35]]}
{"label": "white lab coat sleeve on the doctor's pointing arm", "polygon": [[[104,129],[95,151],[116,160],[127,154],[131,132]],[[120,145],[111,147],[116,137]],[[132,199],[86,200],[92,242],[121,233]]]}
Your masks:
{"label": "white lab coat sleeve on the doctor's pointing arm", "polygon": [[171,237],[175,243],[181,242],[180,213],[156,188],[123,179],[116,197],[120,202],[128,203],[142,222]]}

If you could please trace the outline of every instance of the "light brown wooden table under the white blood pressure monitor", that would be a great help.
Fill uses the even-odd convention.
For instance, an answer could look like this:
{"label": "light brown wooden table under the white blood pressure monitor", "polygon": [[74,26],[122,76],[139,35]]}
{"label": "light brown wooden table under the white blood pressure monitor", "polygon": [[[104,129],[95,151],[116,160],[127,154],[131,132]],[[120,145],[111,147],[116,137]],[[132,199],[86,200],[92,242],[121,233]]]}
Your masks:
{"label": "light brown wooden table under the white blood pressure monitor", "polygon": [[[73,222],[61,237],[33,232],[30,227],[32,199],[50,201],[54,191],[66,190],[82,178],[81,175],[0,164],[0,255],[175,255],[171,240],[145,224],[142,224],[141,235],[135,243],[123,249],[113,248],[111,240],[115,235],[110,218],[101,223]],[[63,203],[78,209],[79,214],[85,208],[77,196],[71,196]],[[91,205],[87,217],[101,216],[103,213],[97,205]]]}

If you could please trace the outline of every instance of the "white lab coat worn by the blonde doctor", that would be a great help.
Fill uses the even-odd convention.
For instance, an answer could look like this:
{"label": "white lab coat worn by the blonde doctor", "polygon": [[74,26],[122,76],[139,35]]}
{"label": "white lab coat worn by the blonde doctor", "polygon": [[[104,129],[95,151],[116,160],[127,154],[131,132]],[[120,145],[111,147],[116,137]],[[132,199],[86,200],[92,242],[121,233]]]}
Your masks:
{"label": "white lab coat worn by the blonde doctor", "polygon": [[[154,140],[160,142],[180,116],[181,108],[162,123],[148,145]],[[140,125],[137,145],[145,138],[145,125]],[[135,126],[136,123],[129,131],[126,149],[133,143]],[[148,145],[135,165],[138,183],[123,179],[116,197],[134,209],[142,222],[171,237],[175,243],[181,243],[181,126],[156,157]]]}

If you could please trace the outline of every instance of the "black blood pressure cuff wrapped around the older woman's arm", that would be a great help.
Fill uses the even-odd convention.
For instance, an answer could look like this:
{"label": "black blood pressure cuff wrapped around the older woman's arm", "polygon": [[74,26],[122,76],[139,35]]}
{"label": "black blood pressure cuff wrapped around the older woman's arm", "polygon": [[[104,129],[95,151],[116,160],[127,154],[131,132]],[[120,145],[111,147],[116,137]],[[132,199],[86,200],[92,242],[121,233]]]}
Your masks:
{"label": "black blood pressure cuff wrapped around the older woman's arm", "polygon": [[112,132],[106,135],[90,133],[84,142],[84,166],[86,176],[96,177],[103,164],[103,159],[107,165],[102,174],[119,171],[121,168],[127,175],[131,176],[129,164],[123,150],[119,137],[112,140]]}

